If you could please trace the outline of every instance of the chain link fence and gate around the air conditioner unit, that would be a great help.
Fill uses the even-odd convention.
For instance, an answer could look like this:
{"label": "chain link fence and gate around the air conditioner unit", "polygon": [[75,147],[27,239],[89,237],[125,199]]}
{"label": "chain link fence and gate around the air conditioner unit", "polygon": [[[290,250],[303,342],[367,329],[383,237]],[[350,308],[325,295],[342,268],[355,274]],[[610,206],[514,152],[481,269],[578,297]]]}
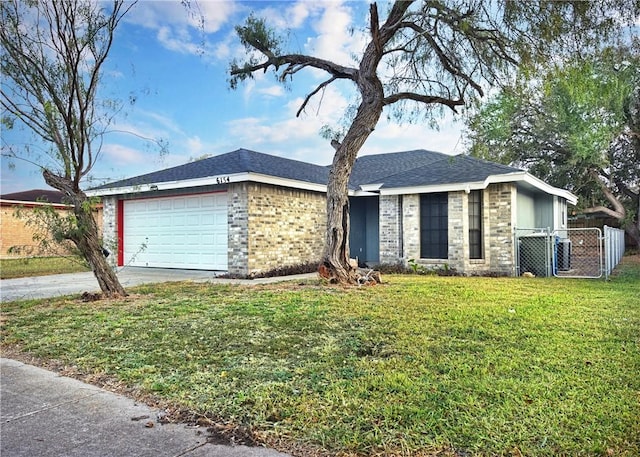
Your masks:
{"label": "chain link fence and gate around the air conditioner unit", "polygon": [[514,236],[518,276],[602,277],[603,237],[598,228],[516,229]]}

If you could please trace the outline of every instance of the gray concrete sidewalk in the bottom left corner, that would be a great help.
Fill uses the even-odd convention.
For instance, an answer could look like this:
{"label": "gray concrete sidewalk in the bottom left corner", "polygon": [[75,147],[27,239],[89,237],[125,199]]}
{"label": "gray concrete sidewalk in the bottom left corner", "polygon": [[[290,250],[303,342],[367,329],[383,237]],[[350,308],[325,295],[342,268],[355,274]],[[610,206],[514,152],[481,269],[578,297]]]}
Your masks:
{"label": "gray concrete sidewalk in the bottom left corner", "polygon": [[121,395],[0,358],[3,457],[287,457],[208,443],[205,428],[161,424],[161,415]]}

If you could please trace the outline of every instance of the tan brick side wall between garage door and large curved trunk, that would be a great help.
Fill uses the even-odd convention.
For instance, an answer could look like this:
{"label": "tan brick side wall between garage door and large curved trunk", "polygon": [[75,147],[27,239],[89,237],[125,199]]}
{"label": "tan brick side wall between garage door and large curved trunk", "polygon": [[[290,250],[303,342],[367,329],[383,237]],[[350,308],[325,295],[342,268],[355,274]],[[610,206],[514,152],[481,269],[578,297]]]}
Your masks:
{"label": "tan brick side wall between garage door and large curved trunk", "polygon": [[[251,275],[320,260],[327,224],[323,193],[259,183],[241,186],[246,189],[246,210],[241,204],[229,208],[229,273]],[[235,189],[232,192],[235,195]],[[230,195],[230,205],[232,201],[235,205]],[[245,211],[246,229],[239,227]],[[241,234],[246,249],[238,248]],[[246,270],[240,272],[245,255]]]}

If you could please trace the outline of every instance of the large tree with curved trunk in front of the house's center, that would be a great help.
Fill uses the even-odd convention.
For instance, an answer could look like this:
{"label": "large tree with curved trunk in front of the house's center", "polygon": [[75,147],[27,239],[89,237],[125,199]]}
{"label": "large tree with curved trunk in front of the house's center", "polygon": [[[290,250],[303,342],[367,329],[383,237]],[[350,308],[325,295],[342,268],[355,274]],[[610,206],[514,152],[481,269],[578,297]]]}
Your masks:
{"label": "large tree with curved trunk in front of the house's center", "polygon": [[[625,6],[626,5],[626,6]],[[367,43],[353,66],[312,55],[289,53],[266,20],[250,16],[236,31],[247,58],[230,69],[232,88],[255,72],[273,71],[286,82],[301,70],[326,72],[328,85],[353,83],[358,100],[343,136],[332,139],[335,155],[327,185],[324,265],[340,282],[353,282],[349,263],[348,182],[360,148],[383,110],[399,119],[459,107],[484,94],[484,87],[508,79],[512,66],[593,45],[629,18],[629,2],[510,2],[497,0],[395,1],[384,21],[369,8]],[[634,12],[635,13],[635,12]],[[634,13],[631,13],[633,16]],[[562,37],[563,40],[556,38]]]}

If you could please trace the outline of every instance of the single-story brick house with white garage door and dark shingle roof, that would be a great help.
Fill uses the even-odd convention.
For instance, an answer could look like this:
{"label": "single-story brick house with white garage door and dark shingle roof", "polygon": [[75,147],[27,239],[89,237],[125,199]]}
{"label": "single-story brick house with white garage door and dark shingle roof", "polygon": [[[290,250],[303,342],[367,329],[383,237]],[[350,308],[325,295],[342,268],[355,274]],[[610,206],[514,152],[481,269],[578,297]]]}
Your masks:
{"label": "single-story brick house with white garage door and dark shingle roof", "polygon": [[[245,149],[94,188],[118,265],[239,276],[319,261],[329,167]],[[564,229],[577,197],[516,168],[426,150],[362,156],[350,252],[465,274],[514,274],[514,228]]]}

